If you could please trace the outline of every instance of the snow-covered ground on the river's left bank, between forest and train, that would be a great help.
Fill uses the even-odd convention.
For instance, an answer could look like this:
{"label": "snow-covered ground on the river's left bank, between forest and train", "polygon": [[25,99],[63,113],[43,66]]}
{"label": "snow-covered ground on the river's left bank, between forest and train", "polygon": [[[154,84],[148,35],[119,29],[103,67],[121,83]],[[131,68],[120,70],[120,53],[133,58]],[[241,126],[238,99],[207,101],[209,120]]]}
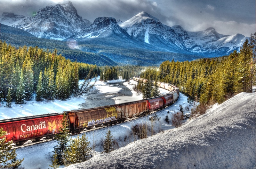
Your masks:
{"label": "snow-covered ground on the river's left bank, between forest and train", "polygon": [[[111,82],[118,82],[123,80],[113,80],[108,81]],[[81,83],[82,81],[80,81]],[[122,88],[111,87],[107,85],[107,83],[96,81],[94,87],[95,89],[99,90],[99,93],[118,93],[122,90]],[[5,102],[1,102],[0,107],[0,119],[8,119],[8,118],[15,118],[15,117],[24,117],[24,116],[34,116],[40,114],[48,114],[48,113],[56,113],[56,112],[63,112],[73,109],[79,109],[82,104],[86,102],[85,96],[80,96],[79,98],[70,98],[66,101],[61,100],[54,100],[54,101],[43,101],[43,102],[36,102],[35,99],[32,101],[27,101],[27,104],[15,104],[12,102],[11,108],[5,107]]]}

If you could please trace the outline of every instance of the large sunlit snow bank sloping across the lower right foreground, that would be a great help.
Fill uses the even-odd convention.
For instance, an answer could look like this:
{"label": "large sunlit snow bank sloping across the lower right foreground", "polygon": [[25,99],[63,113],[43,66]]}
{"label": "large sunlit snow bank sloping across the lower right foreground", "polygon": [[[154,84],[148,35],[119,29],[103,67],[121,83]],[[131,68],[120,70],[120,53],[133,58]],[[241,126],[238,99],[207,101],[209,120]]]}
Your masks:
{"label": "large sunlit snow bank sloping across the lower right foreground", "polygon": [[240,93],[181,128],[66,168],[255,168],[255,93]]}

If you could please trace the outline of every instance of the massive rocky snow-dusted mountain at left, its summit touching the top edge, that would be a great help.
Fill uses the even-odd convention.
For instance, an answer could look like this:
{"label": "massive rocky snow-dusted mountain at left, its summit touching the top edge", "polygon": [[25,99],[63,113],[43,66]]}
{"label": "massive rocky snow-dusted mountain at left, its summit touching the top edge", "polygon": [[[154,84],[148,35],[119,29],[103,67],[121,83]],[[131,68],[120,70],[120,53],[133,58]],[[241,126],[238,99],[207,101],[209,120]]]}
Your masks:
{"label": "massive rocky snow-dusted mountain at left, its summit touching the top edge", "polygon": [[63,40],[74,36],[85,28],[82,17],[70,1],[46,6],[37,11],[33,18],[24,18],[11,26],[25,30],[38,38]]}

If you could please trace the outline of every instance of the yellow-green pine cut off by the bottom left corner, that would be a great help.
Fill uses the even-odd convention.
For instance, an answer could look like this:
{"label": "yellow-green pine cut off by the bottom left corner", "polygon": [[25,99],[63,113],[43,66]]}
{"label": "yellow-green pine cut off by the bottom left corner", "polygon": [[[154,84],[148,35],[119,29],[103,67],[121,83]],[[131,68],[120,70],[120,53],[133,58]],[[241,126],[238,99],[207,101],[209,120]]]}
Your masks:
{"label": "yellow-green pine cut off by the bottom left corner", "polygon": [[[17,159],[15,149],[12,149],[12,140],[5,143],[6,131],[3,128],[0,129],[0,168],[13,168],[14,166],[19,166],[23,159]],[[14,158],[16,160],[14,160]]]}

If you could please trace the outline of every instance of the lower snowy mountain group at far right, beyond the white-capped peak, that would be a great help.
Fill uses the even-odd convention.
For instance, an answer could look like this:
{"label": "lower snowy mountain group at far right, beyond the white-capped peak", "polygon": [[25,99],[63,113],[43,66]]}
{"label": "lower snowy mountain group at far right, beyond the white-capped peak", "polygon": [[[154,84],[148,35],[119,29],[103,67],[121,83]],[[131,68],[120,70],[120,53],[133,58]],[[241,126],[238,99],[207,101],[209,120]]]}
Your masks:
{"label": "lower snowy mountain group at far right, beyond the white-capped peak", "polygon": [[204,31],[187,32],[180,25],[172,26],[172,29],[179,34],[185,46],[193,53],[226,55],[240,46],[248,37],[244,35],[223,35],[209,27]]}

